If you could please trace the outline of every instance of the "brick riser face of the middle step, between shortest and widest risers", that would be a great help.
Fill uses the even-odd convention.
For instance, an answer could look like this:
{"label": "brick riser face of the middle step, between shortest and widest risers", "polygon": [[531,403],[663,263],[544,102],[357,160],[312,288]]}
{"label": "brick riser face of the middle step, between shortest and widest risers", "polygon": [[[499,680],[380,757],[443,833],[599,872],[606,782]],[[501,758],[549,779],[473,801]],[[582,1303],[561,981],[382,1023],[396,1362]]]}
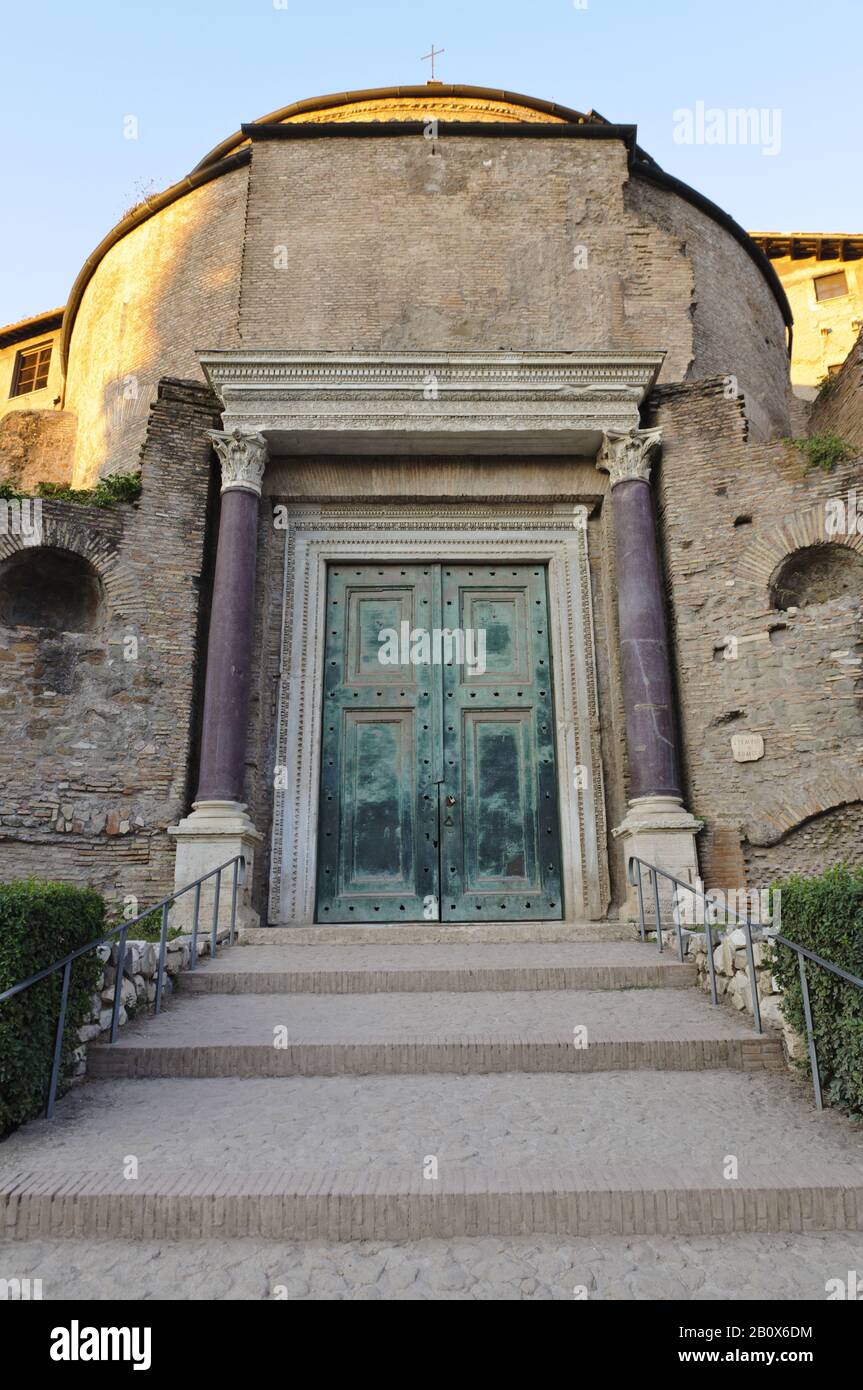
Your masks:
{"label": "brick riser face of the middle step, between shortest and widest risers", "polygon": [[275,1076],[485,1076],[498,1072],[782,1070],[778,1038],[593,1042],[297,1042],[288,1048],[217,1045],[92,1048],[103,1079]]}

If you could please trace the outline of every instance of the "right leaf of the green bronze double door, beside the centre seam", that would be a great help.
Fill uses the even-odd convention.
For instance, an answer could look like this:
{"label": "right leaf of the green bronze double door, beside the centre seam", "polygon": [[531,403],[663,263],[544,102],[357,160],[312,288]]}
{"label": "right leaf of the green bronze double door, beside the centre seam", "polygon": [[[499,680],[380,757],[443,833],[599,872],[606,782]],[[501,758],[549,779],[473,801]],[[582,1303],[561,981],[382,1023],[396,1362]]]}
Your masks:
{"label": "right leaf of the green bronze double door, beside the centre seam", "polygon": [[443,666],[445,922],[560,919],[543,566],[442,567],[443,621],[477,634]]}

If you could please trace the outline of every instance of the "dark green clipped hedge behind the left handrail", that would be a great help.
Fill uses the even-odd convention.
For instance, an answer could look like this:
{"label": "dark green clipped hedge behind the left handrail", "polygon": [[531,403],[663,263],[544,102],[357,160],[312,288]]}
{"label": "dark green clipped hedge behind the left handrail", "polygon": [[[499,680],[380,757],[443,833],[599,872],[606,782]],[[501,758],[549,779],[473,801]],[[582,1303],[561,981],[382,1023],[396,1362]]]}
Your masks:
{"label": "dark green clipped hedge behind the left handrail", "polygon": [[[104,902],[92,888],[39,878],[0,884],[0,992],[94,941],[104,930]],[[61,1080],[71,1072],[78,1029],[89,1016],[100,972],[94,951],[72,966]],[[58,970],[0,1004],[0,1134],[44,1106],[61,991]]]}

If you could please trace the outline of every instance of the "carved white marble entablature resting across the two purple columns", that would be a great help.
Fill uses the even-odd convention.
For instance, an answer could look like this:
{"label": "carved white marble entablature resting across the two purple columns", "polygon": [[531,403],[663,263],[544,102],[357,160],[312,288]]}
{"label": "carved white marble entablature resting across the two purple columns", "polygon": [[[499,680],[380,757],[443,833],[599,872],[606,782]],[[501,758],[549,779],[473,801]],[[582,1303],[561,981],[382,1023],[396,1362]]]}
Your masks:
{"label": "carved white marble entablature resting across the two purple columns", "polygon": [[271,453],[581,453],[638,428],[661,352],[199,354],[225,430]]}

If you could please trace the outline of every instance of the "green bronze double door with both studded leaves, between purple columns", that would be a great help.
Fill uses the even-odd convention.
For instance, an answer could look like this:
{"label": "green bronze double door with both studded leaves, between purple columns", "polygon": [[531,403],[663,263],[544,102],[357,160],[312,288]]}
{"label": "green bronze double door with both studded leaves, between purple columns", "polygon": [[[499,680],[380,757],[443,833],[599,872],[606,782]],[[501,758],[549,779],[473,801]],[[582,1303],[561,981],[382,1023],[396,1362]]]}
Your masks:
{"label": "green bronze double door with both studded leaves, between purple columns", "polygon": [[317,920],[560,919],[546,570],[335,564]]}

